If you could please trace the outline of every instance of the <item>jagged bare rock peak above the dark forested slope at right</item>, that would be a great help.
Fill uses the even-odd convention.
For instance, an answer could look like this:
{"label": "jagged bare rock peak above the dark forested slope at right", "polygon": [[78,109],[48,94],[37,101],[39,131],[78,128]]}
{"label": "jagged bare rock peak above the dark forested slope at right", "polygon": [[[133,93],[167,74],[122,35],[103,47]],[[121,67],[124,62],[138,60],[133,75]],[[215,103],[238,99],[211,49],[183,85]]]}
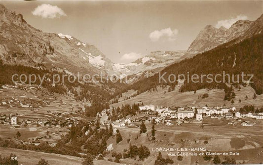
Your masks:
{"label": "jagged bare rock peak above the dark forested slope at right", "polygon": [[199,32],[183,58],[209,51],[233,39],[241,41],[252,35],[259,34],[262,29],[263,15],[256,21],[239,20],[228,29],[225,27],[216,28],[212,25],[208,25]]}

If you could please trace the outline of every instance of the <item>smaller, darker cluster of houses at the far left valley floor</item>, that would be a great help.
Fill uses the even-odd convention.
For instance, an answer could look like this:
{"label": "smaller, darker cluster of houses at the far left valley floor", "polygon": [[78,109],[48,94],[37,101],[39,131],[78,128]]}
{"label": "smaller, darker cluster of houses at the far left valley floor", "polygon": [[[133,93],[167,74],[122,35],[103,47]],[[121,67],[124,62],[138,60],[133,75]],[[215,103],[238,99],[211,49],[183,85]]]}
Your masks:
{"label": "smaller, darker cluster of houses at the far left valley floor", "polygon": [[11,125],[38,125],[42,127],[71,127],[73,124],[77,124],[78,120],[75,118],[64,118],[61,114],[57,114],[56,117],[50,119],[32,119],[22,118],[18,114],[3,114],[0,116],[0,124]]}

